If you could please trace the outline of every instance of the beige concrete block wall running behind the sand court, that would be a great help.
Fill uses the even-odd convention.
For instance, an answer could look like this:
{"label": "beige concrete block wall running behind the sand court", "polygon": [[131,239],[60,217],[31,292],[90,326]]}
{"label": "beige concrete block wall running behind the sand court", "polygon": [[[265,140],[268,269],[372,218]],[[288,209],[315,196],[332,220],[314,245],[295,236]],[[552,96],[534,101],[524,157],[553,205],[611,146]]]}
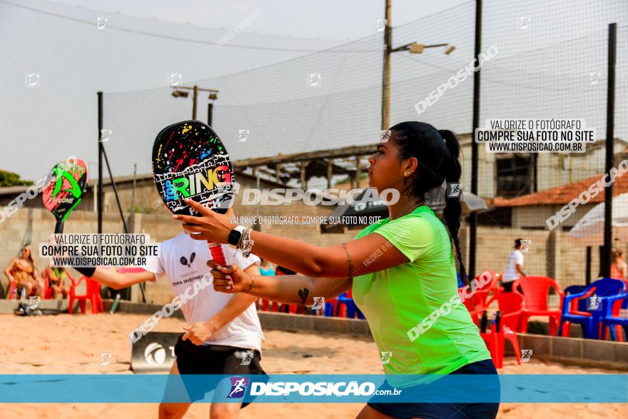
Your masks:
{"label": "beige concrete block wall running behind the sand court", "polygon": [[[294,203],[290,206],[244,206],[237,208],[238,216],[325,216],[331,208],[323,206],[306,206],[303,203]],[[176,236],[181,231],[179,223],[172,220],[168,211],[155,211],[150,214],[136,214],[134,217],[136,233],[148,233],[155,242],[164,241]],[[96,213],[76,211],[66,221],[66,233],[93,233],[97,231]],[[262,225],[261,230],[278,236],[308,241],[319,246],[331,246],[350,241],[358,230],[340,234],[321,234],[318,224],[299,225]],[[4,271],[11,258],[16,256],[26,242],[33,243],[35,258],[39,268],[45,268],[45,260],[37,257],[39,243],[48,241],[49,234],[54,231],[54,218],[43,209],[24,208],[0,224],[0,268]],[[115,213],[104,214],[103,231],[105,233],[119,233],[122,231],[119,216]],[[463,254],[468,254],[468,243],[465,239],[465,230],[461,231],[462,243],[465,243]],[[532,240],[530,251],[525,253],[524,270],[530,275],[542,275],[555,278],[561,288],[569,285],[584,283],[585,248],[571,246],[567,241],[567,233],[558,231],[532,231],[520,228],[485,227],[478,228],[477,236],[477,268],[480,271],[487,269],[504,271],[508,256],[512,251],[512,242],[515,238]],[[592,252],[592,274],[598,271],[597,249]],[[4,273],[1,276],[4,287],[7,279]],[[171,298],[166,278],[156,283],[146,285],[148,301],[165,303]]]}

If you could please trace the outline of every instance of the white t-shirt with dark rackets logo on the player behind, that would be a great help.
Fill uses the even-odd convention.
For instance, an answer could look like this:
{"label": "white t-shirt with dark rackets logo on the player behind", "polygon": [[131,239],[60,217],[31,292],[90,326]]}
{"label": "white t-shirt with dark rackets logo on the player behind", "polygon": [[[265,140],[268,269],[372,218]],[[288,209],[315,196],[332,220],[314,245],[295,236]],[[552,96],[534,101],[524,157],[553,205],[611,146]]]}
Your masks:
{"label": "white t-shirt with dark rackets logo on the player behind", "polygon": [[[176,296],[180,296],[187,288],[191,288],[196,281],[202,281],[204,275],[208,274],[211,277],[210,269],[206,265],[211,259],[211,253],[206,241],[194,240],[186,233],[180,233],[158,246],[159,256],[147,258],[143,268],[154,273],[155,276],[166,274]],[[244,258],[239,251],[236,254],[236,249],[224,244],[221,246],[229,265],[235,263],[243,270],[253,263],[260,266],[260,258],[257,256],[251,254],[248,258]],[[188,291],[188,294],[190,293],[191,291]],[[234,295],[219,293],[214,291],[212,286],[208,286],[183,304],[181,307],[183,317],[186,318],[188,324],[209,320],[221,311]],[[263,339],[260,319],[255,304],[252,303],[238,317],[216,330],[216,333],[203,345],[225,345],[261,350]]]}

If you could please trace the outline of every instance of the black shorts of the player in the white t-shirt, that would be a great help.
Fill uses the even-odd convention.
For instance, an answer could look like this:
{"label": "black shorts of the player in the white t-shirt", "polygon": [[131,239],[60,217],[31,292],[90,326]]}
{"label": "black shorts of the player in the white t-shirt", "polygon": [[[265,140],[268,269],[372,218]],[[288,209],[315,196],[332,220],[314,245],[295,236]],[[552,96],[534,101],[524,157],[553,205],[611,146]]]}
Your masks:
{"label": "black shorts of the player in the white t-shirt", "polygon": [[[178,338],[174,347],[177,368],[181,375],[266,375],[260,365],[262,355],[259,350],[223,345],[194,345],[182,337],[183,335]],[[248,360],[245,362],[248,365],[242,365],[246,353],[253,353],[253,358],[250,359],[250,363]],[[214,388],[198,388],[196,385],[193,388],[186,388],[192,402],[203,399],[211,390]],[[242,403],[242,407],[248,404],[250,403]]]}

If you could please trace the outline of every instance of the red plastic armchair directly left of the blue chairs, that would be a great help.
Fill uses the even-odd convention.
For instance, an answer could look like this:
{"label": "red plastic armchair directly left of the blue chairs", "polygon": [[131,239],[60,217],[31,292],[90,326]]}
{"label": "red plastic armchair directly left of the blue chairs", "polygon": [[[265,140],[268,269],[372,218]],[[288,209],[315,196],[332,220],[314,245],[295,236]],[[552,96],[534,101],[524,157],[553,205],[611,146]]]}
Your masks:
{"label": "red plastic armchair directly left of the blue chairs", "polygon": [[[559,295],[560,307],[558,310],[550,310],[550,308],[547,307],[547,297],[550,295],[550,288],[552,287]],[[517,291],[518,288],[521,288],[525,308],[521,313],[517,332],[527,332],[527,323],[530,317],[547,315],[547,317],[550,318],[550,335],[555,336],[558,326],[560,325],[562,304],[564,301],[564,293],[558,288],[556,281],[547,276],[524,276],[517,279],[517,281],[512,284],[512,289],[515,290],[515,293],[519,293],[519,291]]]}

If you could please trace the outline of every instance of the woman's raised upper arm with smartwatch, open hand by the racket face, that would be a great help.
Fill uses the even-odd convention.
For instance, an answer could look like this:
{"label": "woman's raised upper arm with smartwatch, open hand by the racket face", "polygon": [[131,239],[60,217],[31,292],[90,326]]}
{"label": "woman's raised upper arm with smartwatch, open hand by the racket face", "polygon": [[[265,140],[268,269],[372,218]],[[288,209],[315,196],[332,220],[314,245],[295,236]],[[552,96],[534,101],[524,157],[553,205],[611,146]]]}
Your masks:
{"label": "woman's raised upper arm with smartwatch, open hand by the racket face", "polygon": [[[229,232],[235,227],[235,224],[229,223],[228,217],[194,201],[186,200],[186,203],[201,216],[177,215],[174,218],[183,221],[183,228],[192,233],[192,238],[227,243]],[[335,246],[315,246],[258,231],[253,231],[251,238],[255,255],[315,278],[353,278],[408,261],[390,241],[378,234],[369,234]]]}

